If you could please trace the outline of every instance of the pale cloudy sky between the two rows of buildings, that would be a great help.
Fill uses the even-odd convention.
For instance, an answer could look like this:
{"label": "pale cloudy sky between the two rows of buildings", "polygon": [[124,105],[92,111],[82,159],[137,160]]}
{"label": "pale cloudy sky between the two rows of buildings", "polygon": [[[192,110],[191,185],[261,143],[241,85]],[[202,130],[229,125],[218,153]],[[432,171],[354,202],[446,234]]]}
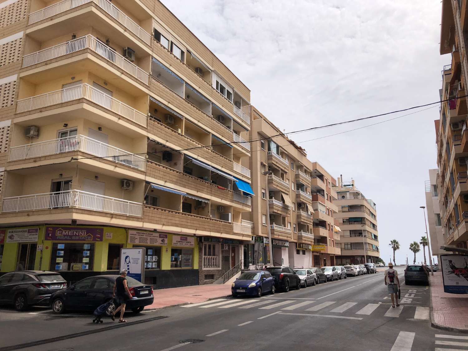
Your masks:
{"label": "pale cloudy sky between the two rows of buildings", "polygon": [[[439,1],[162,2],[285,132],[437,102],[442,67],[451,62],[439,54]],[[437,168],[434,119],[438,105],[289,135],[309,160],[335,178],[354,179],[377,204],[385,262],[390,240],[400,242],[395,256],[403,264],[407,255],[413,260],[410,242],[425,235],[419,206],[428,170]],[[416,257],[423,260],[422,248]]]}

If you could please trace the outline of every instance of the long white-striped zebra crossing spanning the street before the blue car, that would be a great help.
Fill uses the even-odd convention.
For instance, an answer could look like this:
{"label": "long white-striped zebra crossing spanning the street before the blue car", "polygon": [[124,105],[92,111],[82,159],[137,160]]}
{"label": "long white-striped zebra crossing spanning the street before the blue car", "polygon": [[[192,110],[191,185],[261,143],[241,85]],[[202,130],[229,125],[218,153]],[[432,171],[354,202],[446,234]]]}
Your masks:
{"label": "long white-striped zebra crossing spanning the street before the blue car", "polygon": [[366,302],[344,302],[344,301],[317,301],[313,299],[280,299],[280,298],[262,298],[262,299],[216,299],[211,301],[199,302],[191,305],[181,306],[183,308],[239,308],[239,309],[259,309],[295,311],[295,312],[315,312],[331,313],[336,315],[358,314],[358,315],[377,315],[383,314],[384,317],[412,318],[414,320],[428,320],[429,307],[420,306],[400,306],[391,307],[390,304],[366,303]]}

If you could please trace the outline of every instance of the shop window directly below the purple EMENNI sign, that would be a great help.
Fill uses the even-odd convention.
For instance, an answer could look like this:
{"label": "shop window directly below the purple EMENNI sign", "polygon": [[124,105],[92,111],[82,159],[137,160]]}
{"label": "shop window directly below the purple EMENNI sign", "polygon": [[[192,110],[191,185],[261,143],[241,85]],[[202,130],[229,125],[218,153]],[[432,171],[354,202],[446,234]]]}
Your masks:
{"label": "shop window directly below the purple EMENNI sign", "polygon": [[94,243],[52,244],[51,271],[92,271]]}

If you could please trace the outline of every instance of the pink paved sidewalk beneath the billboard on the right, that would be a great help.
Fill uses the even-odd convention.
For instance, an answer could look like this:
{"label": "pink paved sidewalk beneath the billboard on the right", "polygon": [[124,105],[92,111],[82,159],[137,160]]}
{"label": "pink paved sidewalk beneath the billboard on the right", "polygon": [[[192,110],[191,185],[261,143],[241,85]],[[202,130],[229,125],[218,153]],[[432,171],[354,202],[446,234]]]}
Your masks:
{"label": "pink paved sidewalk beneath the billboard on the right", "polygon": [[442,272],[435,272],[429,278],[432,327],[468,333],[468,295],[445,293]]}

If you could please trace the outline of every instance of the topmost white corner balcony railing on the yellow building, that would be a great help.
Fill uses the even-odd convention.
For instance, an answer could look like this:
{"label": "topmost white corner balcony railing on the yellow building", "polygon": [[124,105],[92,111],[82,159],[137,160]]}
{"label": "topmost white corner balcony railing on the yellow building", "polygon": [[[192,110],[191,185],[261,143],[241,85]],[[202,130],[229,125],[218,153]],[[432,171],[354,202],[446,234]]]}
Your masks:
{"label": "topmost white corner balcony railing on the yellow building", "polygon": [[51,6],[41,8],[35,12],[29,14],[28,24],[33,24],[42,21],[46,18],[61,14],[62,12],[68,11],[74,7],[94,2],[97,6],[101,7],[105,12],[111,15],[122,24],[126,29],[130,30],[133,34],[143,40],[146,44],[151,44],[151,34],[145,29],[141,28],[136,22],[134,22],[129,16],[125,15],[118,7],[114,6],[107,0],[65,0],[57,2]]}

